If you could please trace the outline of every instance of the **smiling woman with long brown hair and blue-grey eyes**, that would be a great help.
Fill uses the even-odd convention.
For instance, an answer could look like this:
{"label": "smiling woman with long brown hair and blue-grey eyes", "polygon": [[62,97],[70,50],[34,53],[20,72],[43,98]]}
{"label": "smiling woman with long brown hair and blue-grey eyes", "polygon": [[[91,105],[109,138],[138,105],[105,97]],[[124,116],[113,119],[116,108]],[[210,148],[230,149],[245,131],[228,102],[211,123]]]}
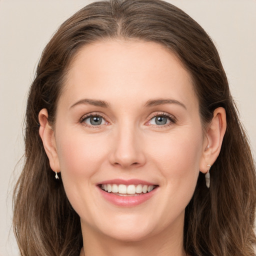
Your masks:
{"label": "smiling woman with long brown hair and blue-grey eyes", "polygon": [[254,255],[255,167],[224,70],[169,3],[95,2],[65,21],[25,145],[22,255]]}

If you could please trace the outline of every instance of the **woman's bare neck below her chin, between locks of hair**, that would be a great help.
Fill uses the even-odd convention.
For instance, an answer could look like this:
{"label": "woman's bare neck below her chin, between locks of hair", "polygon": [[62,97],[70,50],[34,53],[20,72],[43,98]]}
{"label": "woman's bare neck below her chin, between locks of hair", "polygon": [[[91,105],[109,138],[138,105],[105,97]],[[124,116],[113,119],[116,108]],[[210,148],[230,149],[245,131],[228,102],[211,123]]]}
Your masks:
{"label": "woman's bare neck below her chin, between locks of hair", "polygon": [[[83,229],[83,228],[82,228]],[[86,228],[87,229],[87,228]],[[183,250],[183,228],[180,232],[170,229],[143,238],[139,241],[117,240],[95,230],[84,230],[84,252],[80,256],[185,256]],[[172,229],[172,228],[171,228]],[[172,230],[177,231],[176,228]]]}

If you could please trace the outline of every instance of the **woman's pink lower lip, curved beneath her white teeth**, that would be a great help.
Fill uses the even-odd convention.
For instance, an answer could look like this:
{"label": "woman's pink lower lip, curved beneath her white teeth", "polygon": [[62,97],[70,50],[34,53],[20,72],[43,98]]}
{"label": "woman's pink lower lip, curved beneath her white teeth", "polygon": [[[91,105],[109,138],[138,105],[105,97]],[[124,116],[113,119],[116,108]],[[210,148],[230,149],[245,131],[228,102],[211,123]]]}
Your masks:
{"label": "woman's pink lower lip, curved beneath her white teeth", "polygon": [[155,187],[152,191],[140,194],[140,195],[133,195],[133,196],[121,196],[121,195],[116,195],[113,193],[108,193],[104,190],[102,190],[100,187],[98,187],[99,192],[101,195],[106,199],[107,201],[117,205],[117,206],[122,206],[122,207],[132,207],[139,205],[148,199],[150,199],[154,193],[156,192],[158,187]]}

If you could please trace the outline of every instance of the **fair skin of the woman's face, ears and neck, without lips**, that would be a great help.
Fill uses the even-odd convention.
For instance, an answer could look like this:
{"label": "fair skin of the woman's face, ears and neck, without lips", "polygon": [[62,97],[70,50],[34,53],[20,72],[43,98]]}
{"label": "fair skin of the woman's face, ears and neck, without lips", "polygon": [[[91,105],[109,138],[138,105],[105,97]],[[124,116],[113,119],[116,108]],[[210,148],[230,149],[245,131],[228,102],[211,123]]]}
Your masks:
{"label": "fair skin of the woman's face, ears and neck, without lips", "polygon": [[[224,109],[215,109],[203,130],[188,72],[154,42],[86,45],[63,86],[54,128],[42,109],[39,132],[50,166],[61,171],[66,195],[80,216],[85,255],[184,255],[184,210],[199,170],[205,173],[219,153]],[[78,102],[83,99],[107,105]],[[152,101],[159,99],[172,102]],[[102,123],[81,121],[88,113],[102,116]],[[155,116],[162,114],[170,119],[157,125]],[[96,186],[114,178],[138,178],[158,187],[149,200],[120,207],[106,201]]]}

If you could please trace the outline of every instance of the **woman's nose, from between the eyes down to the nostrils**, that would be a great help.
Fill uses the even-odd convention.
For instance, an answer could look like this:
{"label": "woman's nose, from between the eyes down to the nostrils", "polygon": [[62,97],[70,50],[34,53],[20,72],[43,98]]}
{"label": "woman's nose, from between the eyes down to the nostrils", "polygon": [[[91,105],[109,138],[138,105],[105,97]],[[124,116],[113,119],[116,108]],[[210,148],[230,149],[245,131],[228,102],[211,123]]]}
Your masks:
{"label": "woman's nose, from between the eyes down to the nostrils", "polygon": [[113,136],[109,161],[122,168],[139,167],[145,164],[143,136],[134,127],[123,125]]}

